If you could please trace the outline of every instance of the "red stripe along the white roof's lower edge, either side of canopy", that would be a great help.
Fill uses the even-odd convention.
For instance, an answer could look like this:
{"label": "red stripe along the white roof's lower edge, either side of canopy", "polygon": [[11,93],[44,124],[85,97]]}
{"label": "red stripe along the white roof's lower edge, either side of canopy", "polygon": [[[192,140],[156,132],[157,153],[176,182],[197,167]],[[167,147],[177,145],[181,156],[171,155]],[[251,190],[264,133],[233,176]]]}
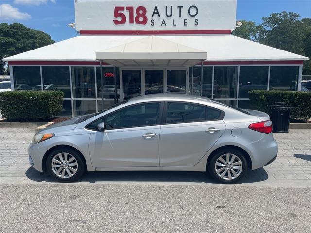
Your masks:
{"label": "red stripe along the white roof's lower edge, either side of canopy", "polygon": [[[100,62],[89,61],[10,61],[9,65],[90,65],[99,66]],[[103,62],[103,65],[109,65]],[[302,65],[303,61],[225,61],[225,62],[204,62],[203,65]]]}

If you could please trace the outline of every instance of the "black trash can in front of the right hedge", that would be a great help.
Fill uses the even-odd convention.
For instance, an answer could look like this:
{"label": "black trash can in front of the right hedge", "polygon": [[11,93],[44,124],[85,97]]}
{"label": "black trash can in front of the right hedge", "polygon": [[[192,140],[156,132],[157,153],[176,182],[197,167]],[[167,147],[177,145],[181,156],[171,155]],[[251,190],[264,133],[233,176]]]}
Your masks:
{"label": "black trash can in front of the right hedge", "polygon": [[291,107],[284,102],[276,102],[270,106],[270,119],[273,124],[273,133],[288,133],[291,118]]}

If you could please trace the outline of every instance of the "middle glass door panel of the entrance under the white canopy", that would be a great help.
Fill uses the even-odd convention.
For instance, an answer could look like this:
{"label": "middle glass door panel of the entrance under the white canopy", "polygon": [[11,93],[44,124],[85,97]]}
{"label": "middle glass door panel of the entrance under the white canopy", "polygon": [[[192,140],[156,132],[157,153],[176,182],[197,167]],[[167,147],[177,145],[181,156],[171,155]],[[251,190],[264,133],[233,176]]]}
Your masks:
{"label": "middle glass door panel of the entrance under the white canopy", "polygon": [[145,95],[163,93],[164,70],[144,70]]}

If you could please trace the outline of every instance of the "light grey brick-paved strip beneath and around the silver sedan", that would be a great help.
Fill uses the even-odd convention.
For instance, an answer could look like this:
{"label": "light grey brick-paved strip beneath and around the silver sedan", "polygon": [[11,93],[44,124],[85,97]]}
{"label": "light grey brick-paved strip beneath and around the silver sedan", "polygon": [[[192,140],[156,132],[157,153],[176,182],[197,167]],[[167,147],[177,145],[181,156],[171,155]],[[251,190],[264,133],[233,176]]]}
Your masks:
{"label": "light grey brick-paved strip beneath and around the silver sedan", "polygon": [[[34,129],[0,128],[0,184],[50,184],[54,182],[28,164],[27,147]],[[249,170],[242,186],[311,187],[311,129],[275,133],[279,153],[264,168]],[[202,172],[126,171],[90,172],[78,184],[219,185]]]}

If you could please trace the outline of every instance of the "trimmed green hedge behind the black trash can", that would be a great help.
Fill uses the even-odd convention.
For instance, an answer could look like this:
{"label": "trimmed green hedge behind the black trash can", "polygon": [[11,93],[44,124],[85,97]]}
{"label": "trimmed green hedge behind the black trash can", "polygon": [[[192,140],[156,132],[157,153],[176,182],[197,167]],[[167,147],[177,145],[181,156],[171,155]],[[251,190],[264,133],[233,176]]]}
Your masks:
{"label": "trimmed green hedge behind the black trash can", "polygon": [[250,105],[253,109],[270,114],[269,105],[285,102],[292,107],[291,120],[311,118],[311,92],[300,91],[249,91]]}

